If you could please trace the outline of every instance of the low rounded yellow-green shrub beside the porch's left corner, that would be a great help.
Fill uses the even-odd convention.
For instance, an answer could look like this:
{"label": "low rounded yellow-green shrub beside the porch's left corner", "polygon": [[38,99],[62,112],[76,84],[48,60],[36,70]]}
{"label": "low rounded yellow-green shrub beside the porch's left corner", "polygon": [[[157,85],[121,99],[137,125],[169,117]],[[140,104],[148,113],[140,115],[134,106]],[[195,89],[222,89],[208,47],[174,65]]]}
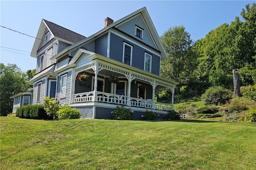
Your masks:
{"label": "low rounded yellow-green shrub beside the porch's left corner", "polygon": [[82,115],[82,114],[80,113],[79,109],[72,108],[68,104],[64,104],[57,111],[57,117],[58,117],[59,120],[79,119],[80,115]]}

